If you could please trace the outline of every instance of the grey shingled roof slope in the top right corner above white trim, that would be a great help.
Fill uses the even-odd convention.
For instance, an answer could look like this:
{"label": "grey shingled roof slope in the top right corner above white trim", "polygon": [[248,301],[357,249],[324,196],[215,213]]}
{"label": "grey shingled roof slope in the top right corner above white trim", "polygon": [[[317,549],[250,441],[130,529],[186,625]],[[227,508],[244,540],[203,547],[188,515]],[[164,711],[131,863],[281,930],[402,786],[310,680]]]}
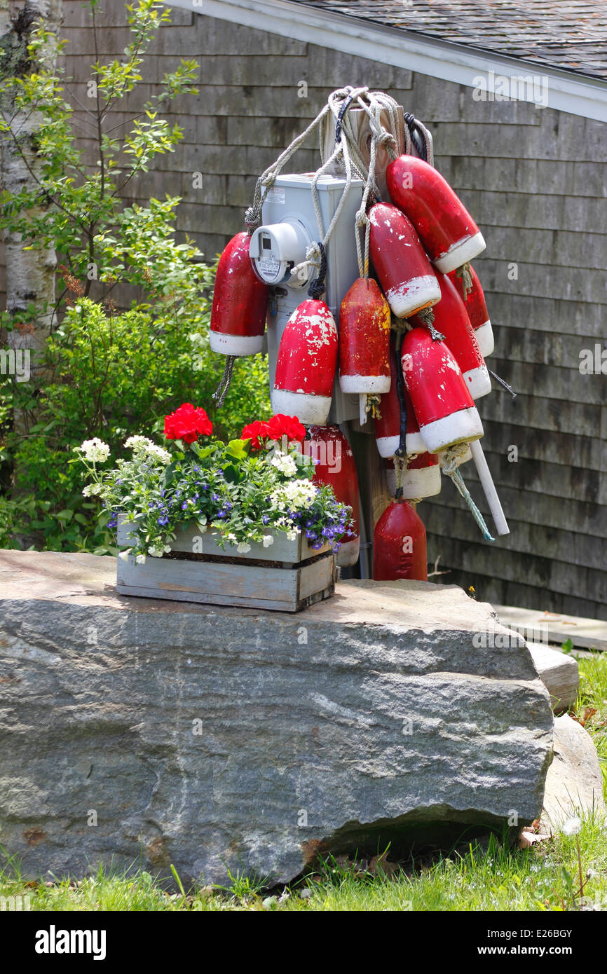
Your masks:
{"label": "grey shingled roof slope in the top right corner above white trim", "polygon": [[607,78],[607,0],[293,0],[522,57],[545,67]]}

